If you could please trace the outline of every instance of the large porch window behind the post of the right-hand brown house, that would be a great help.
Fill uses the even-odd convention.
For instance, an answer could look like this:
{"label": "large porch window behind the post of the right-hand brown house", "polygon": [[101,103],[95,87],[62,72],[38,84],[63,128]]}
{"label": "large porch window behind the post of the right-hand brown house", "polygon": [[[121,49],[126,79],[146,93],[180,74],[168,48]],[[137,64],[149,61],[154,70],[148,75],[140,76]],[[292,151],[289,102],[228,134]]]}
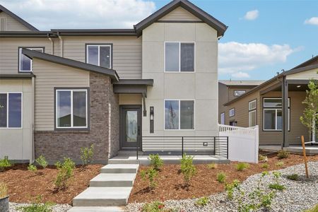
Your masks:
{"label": "large porch window behind the post of the right-hand brown house", "polygon": [[[283,129],[283,111],[281,98],[264,98],[264,131],[281,131]],[[290,99],[288,98],[288,130],[290,130]]]}

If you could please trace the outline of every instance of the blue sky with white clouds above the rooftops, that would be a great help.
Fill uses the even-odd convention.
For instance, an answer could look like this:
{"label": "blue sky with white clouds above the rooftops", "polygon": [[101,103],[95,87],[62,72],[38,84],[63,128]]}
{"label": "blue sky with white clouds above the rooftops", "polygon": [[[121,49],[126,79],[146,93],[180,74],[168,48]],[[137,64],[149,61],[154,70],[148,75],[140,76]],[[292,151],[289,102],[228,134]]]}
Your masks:
{"label": "blue sky with white clouds above the rooftops", "polygon": [[[168,0],[0,0],[39,30],[133,28]],[[267,80],[318,54],[318,1],[192,0],[228,30],[220,79]]]}

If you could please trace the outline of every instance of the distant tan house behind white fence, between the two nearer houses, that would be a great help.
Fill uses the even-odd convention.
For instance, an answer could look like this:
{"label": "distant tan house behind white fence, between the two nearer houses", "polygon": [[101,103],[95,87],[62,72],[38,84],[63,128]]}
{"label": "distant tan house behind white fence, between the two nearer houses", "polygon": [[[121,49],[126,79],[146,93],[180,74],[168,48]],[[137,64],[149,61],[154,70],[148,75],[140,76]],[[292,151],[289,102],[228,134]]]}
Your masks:
{"label": "distant tan house behind white fence, between the two nearer houses", "polygon": [[[219,124],[235,126],[236,123],[232,122],[232,119],[225,119],[225,117],[232,117],[235,113],[235,109],[231,108],[231,110],[227,110],[227,107],[225,107],[224,104],[244,93],[247,93],[249,90],[259,86],[261,83],[264,83],[264,81],[218,81]],[[228,114],[225,115],[226,113]]]}

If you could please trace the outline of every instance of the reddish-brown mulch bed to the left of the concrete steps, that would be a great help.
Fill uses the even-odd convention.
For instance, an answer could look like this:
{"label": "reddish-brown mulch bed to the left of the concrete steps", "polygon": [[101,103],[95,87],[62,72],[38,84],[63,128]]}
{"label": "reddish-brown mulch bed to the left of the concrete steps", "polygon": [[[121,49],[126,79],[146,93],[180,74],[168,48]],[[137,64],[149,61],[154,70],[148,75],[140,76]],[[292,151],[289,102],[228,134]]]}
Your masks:
{"label": "reddish-brown mulch bed to the left of the concrete steps", "polygon": [[0,181],[8,185],[10,201],[16,203],[30,203],[42,196],[42,202],[52,201],[56,204],[71,204],[73,197],[88,187],[90,179],[100,173],[102,165],[88,165],[85,168],[77,166],[67,189],[57,191],[54,180],[58,170],[55,166],[40,168],[37,174],[28,171],[28,164],[16,164],[4,172],[0,172]]}

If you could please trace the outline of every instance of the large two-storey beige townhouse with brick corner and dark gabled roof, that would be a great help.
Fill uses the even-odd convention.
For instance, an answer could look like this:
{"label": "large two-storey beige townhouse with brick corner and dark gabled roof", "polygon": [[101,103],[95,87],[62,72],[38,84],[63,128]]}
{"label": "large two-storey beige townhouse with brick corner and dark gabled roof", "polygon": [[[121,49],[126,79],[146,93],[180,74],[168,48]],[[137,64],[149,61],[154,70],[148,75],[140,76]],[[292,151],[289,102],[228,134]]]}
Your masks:
{"label": "large two-storey beige townhouse with brick corner and dark gabled roof", "polygon": [[189,1],[133,29],[39,31],[3,6],[0,21],[1,158],[78,161],[93,143],[95,162],[107,163],[145,150],[142,136],[218,136],[227,27]]}

